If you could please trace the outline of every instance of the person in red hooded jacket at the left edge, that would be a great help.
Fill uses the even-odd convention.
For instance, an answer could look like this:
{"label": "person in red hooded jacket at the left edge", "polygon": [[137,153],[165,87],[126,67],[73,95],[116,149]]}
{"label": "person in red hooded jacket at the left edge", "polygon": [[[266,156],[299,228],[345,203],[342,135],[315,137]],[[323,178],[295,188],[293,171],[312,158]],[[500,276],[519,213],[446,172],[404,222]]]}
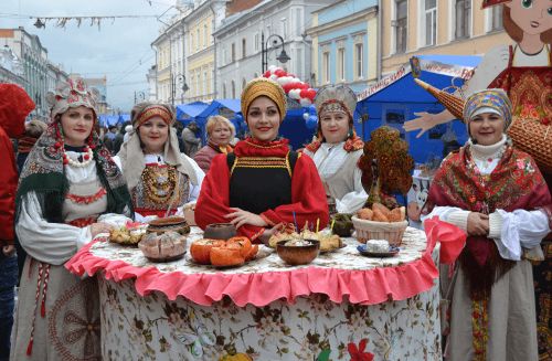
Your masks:
{"label": "person in red hooded jacket at the left edge", "polygon": [[19,85],[0,84],[0,361],[10,357],[13,326],[18,255],[13,245],[13,221],[18,168],[10,138],[25,131],[25,117],[34,109],[33,100]]}

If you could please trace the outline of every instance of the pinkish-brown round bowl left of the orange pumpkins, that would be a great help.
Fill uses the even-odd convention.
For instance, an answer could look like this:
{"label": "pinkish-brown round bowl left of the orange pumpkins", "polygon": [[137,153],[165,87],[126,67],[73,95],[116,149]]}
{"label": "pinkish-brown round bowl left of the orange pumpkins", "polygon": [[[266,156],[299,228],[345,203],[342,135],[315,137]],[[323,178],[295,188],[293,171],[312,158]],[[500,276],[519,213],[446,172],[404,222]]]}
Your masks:
{"label": "pinkish-brown round bowl left of the orange pumpkins", "polygon": [[138,243],[138,247],[152,262],[174,261],[185,253],[185,236],[173,231],[161,235],[149,233]]}

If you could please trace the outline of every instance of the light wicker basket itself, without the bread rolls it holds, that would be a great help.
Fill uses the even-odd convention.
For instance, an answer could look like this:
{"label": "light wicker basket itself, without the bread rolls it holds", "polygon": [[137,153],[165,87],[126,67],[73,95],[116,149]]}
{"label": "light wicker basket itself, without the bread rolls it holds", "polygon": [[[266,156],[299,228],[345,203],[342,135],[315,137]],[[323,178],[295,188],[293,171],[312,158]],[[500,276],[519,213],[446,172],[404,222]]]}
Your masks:
{"label": "light wicker basket itself, without the bread rolls it holds", "polygon": [[386,240],[390,245],[399,247],[403,242],[404,231],[408,222],[373,222],[352,216],[357,231],[357,240],[365,243],[368,240]]}

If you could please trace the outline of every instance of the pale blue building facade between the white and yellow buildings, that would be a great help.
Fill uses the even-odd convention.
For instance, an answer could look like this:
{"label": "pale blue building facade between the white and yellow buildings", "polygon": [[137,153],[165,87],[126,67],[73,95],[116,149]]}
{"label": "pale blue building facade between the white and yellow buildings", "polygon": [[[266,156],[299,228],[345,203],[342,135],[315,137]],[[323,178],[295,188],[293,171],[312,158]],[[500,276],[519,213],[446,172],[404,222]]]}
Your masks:
{"label": "pale blue building facade between the white and yellow buildings", "polygon": [[364,89],[378,79],[376,0],[342,0],[312,13],[312,86],[347,84]]}

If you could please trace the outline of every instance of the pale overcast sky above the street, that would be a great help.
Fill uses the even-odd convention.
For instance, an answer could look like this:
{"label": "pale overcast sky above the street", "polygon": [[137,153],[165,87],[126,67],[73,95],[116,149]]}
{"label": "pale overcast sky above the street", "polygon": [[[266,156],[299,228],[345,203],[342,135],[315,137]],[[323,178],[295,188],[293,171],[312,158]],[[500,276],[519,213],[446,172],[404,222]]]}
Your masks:
{"label": "pale overcast sky above the street", "polygon": [[[151,42],[163,25],[156,18],[104,19],[100,28],[71,20],[56,28],[55,20],[36,29],[36,17],[161,15],[168,21],[176,12],[173,0],[1,0],[0,28],[24,29],[40,38],[54,64],[84,77],[107,77],[107,102],[130,110],[135,92],[147,94],[146,74],[156,63]],[[33,17],[30,19],[30,17]]]}

